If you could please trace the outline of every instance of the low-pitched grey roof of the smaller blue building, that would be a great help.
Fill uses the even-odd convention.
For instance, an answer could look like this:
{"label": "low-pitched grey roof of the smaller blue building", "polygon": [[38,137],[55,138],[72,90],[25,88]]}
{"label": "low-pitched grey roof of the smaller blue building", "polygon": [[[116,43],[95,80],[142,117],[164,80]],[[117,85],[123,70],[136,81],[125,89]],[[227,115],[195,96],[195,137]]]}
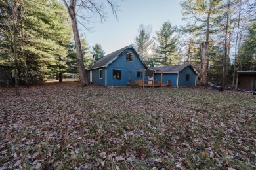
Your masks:
{"label": "low-pitched grey roof of the smaller blue building", "polygon": [[194,67],[190,63],[185,63],[181,65],[169,65],[169,66],[160,66],[160,67],[150,67],[150,69],[161,70],[163,73],[179,73],[186,67],[191,67],[192,70],[198,74],[198,72],[194,69]]}

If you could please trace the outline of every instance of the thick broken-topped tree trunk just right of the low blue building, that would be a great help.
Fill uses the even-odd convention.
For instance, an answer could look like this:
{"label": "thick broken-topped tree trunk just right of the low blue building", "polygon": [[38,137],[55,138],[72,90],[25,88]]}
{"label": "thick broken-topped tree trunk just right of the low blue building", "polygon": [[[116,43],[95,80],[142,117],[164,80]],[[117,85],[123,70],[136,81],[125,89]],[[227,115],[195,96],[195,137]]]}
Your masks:
{"label": "thick broken-topped tree trunk just right of the low blue building", "polygon": [[201,53],[201,85],[207,86],[207,71],[208,71],[208,55],[207,48],[209,44],[207,42],[200,43],[200,53]]}

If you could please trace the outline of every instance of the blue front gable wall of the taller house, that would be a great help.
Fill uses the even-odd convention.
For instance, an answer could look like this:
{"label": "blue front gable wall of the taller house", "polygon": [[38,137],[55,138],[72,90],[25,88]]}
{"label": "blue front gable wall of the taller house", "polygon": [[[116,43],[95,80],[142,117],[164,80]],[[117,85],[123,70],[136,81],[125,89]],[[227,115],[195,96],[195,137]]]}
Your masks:
{"label": "blue front gable wall of the taller house", "polygon": [[[133,53],[133,61],[126,61],[126,52]],[[130,79],[142,80],[143,75],[142,78],[137,78],[137,71],[135,71],[142,69],[146,69],[146,67],[140,61],[139,56],[136,56],[135,52],[131,50],[131,48],[127,49],[120,54],[119,58],[108,65],[107,86],[127,86],[129,82],[129,75]],[[121,70],[121,80],[113,78],[113,70]]]}

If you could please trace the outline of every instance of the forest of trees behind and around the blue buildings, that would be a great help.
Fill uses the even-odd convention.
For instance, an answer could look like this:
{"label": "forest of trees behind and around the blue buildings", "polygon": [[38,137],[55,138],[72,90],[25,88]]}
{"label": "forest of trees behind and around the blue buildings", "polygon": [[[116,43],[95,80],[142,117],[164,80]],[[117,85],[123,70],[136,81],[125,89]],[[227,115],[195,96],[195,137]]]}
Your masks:
{"label": "forest of trees behind and around the blue buildings", "polygon": [[[20,84],[29,86],[45,78],[77,75],[72,17],[63,2],[0,1],[0,65],[14,67],[16,56]],[[121,2],[108,2],[117,17]],[[93,3],[95,7],[87,5],[88,9],[77,3],[75,17],[79,27],[90,29],[84,23],[95,22],[95,16],[104,22],[104,1]],[[131,43],[147,65],[191,63],[200,72],[202,84],[211,81],[224,87],[234,85],[236,71],[255,71],[254,1],[186,0],[180,5],[184,25],[171,24],[171,16],[158,31],[152,31],[150,23],[138,25]],[[86,69],[92,65],[93,55],[97,61],[105,52],[100,42],[90,47],[85,37],[84,33],[79,34]]]}

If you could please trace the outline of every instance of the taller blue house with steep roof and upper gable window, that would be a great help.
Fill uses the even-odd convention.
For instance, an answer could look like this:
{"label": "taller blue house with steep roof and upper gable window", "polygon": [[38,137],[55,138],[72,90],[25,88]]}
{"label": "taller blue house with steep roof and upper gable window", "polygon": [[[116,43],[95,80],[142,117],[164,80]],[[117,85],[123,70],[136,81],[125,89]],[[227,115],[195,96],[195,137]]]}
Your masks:
{"label": "taller blue house with steep roof and upper gable window", "polygon": [[127,86],[129,80],[142,80],[148,69],[133,46],[125,46],[98,60],[87,69],[89,82],[100,86]]}

